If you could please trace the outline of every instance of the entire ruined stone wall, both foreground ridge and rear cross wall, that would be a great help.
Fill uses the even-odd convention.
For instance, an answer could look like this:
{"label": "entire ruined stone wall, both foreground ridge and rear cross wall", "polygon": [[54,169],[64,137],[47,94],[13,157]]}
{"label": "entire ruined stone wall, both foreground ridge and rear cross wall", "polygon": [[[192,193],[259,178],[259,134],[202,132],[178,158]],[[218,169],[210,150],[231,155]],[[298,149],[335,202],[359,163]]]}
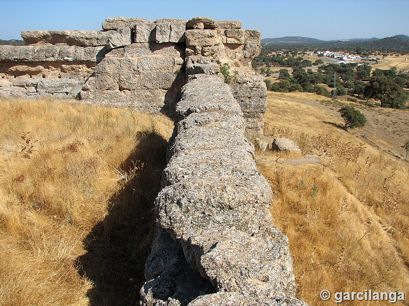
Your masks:
{"label": "entire ruined stone wall, both foreground ridge and rear cross wall", "polygon": [[205,17],[114,17],[102,29],[23,31],[27,45],[0,46],[0,96],[173,116],[141,303],[305,306],[254,160],[266,109],[263,78],[251,69],[260,32]]}

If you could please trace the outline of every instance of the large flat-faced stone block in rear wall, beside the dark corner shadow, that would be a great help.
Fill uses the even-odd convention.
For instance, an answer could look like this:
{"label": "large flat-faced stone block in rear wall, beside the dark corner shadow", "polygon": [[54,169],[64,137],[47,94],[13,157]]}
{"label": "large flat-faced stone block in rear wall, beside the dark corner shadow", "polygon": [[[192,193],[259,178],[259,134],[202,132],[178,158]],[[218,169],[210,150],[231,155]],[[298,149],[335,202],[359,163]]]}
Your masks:
{"label": "large flat-faced stone block in rear wall, beside the dark corner shadow", "polygon": [[180,98],[180,88],[186,83],[181,73],[183,51],[175,43],[132,43],[112,50],[95,67],[80,98],[158,113]]}

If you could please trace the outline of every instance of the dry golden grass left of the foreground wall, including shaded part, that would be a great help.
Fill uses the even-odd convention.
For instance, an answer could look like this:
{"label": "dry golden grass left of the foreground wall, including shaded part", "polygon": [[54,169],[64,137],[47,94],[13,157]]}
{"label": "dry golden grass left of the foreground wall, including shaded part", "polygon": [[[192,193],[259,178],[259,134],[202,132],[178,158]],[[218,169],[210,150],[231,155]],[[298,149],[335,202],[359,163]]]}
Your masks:
{"label": "dry golden grass left of the foreground wall, including shaded part", "polygon": [[137,303],[173,122],[51,99],[0,113],[0,305]]}

